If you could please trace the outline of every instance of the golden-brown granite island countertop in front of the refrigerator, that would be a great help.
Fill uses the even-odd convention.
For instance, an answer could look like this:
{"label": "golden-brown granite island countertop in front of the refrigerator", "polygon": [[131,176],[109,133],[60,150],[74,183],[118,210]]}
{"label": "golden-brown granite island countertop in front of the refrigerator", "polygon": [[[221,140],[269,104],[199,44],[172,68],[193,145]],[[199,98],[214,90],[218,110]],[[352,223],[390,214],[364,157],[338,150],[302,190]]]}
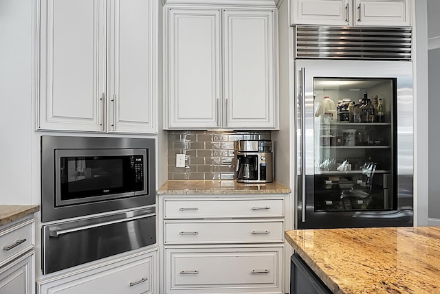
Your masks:
{"label": "golden-brown granite island countertop in front of the refrigerator", "polygon": [[440,293],[440,227],[286,231],[333,293]]}

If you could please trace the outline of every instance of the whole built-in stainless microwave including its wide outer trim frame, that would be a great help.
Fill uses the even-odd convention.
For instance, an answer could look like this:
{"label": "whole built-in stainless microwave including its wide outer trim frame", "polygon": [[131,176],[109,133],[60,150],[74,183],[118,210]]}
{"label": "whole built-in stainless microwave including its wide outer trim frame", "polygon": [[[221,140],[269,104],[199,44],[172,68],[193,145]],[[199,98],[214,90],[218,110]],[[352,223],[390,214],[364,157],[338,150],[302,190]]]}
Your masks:
{"label": "whole built-in stainless microwave including its wide outer trim frame", "polygon": [[41,136],[43,222],[155,203],[155,139]]}

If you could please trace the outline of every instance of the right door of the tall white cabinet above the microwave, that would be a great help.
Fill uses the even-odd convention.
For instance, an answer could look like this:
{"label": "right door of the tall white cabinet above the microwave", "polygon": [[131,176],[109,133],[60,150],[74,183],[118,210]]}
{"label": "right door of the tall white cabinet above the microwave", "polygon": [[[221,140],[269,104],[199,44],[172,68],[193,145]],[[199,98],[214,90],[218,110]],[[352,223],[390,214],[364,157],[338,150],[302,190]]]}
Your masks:
{"label": "right door of the tall white cabinet above the microwave", "polygon": [[155,133],[157,1],[110,3],[109,131]]}

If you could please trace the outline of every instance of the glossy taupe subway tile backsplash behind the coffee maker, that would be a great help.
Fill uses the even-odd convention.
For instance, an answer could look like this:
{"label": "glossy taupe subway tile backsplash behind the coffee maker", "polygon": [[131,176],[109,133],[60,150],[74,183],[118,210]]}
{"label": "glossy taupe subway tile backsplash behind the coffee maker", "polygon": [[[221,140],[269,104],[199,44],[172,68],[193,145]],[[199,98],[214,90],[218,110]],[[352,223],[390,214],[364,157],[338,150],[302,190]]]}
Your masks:
{"label": "glossy taupe subway tile backsplash behind the coffee maker", "polygon": [[[270,131],[168,131],[168,180],[234,179],[234,141],[271,139]],[[186,155],[176,168],[176,154]]]}

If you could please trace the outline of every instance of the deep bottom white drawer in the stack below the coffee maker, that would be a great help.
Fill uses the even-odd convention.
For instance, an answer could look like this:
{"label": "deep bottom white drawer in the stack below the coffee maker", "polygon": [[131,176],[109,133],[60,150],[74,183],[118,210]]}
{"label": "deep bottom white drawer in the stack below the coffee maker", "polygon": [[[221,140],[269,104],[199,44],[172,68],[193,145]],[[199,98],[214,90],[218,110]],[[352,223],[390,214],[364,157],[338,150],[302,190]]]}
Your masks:
{"label": "deep bottom white drawer in the stack below the coffee maker", "polygon": [[281,293],[282,256],[282,247],[166,249],[166,293]]}

